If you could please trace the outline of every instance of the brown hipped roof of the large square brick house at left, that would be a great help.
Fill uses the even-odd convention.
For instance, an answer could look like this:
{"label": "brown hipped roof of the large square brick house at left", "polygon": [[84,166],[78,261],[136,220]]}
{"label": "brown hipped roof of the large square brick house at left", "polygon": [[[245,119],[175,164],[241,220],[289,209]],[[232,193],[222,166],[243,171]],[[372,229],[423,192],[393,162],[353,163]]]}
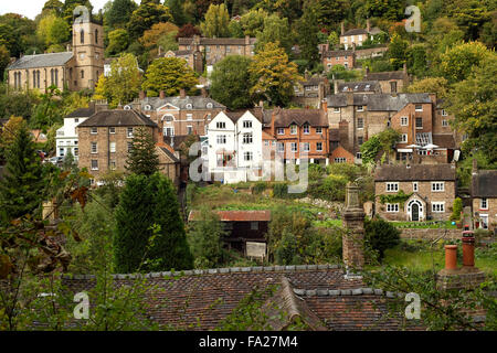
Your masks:
{"label": "brown hipped roof of the large square brick house at left", "polygon": [[88,119],[77,127],[104,127],[104,126],[150,126],[157,127],[157,124],[150,120],[140,111],[129,110],[101,110],[95,113]]}

